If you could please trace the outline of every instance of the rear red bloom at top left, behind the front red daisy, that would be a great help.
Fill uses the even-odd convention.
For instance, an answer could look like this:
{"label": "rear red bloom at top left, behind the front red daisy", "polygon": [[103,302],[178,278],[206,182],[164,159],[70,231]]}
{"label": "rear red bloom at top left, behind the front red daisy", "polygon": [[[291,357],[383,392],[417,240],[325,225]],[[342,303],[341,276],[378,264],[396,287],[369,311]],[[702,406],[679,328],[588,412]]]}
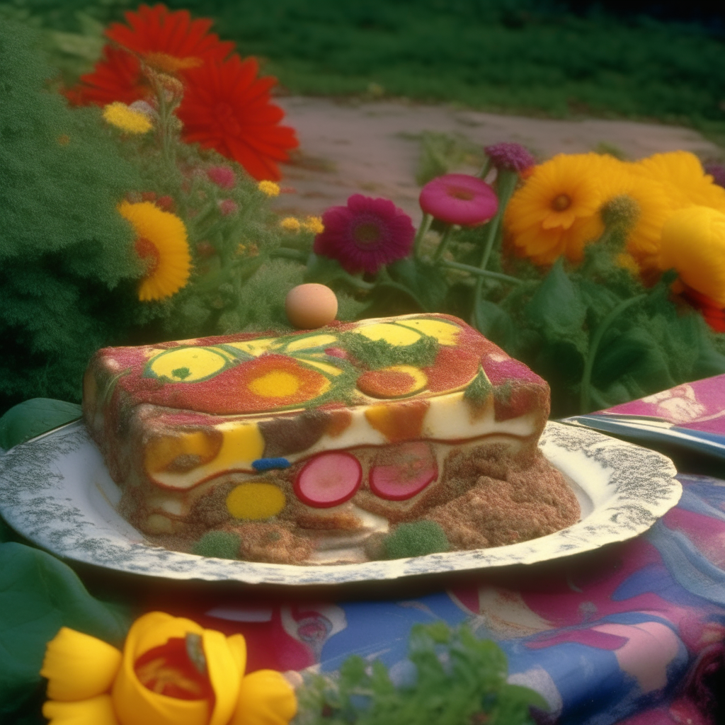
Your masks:
{"label": "rear red bloom at top left, behind the front red daisy", "polygon": [[222,61],[234,47],[208,32],[211,20],[191,20],[187,10],[171,12],[163,5],[141,5],[136,12],[127,12],[125,19],[128,25],[114,22],[109,26],[106,35],[113,44],[104,47],[93,72],[66,91],[72,103],[133,103],[149,92],[142,60],[162,72],[183,75],[189,68]]}

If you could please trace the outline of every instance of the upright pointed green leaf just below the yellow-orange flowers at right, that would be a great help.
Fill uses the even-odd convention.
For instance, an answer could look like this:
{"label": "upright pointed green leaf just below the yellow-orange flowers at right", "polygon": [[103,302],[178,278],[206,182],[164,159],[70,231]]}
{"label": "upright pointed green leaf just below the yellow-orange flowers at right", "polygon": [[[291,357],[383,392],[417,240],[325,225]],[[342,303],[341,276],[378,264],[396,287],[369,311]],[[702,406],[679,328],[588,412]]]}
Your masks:
{"label": "upright pointed green leaf just below the yellow-orange flowers at right", "polygon": [[587,349],[587,336],[582,331],[587,307],[581,292],[564,271],[559,258],[524,310],[531,323],[548,339],[566,339],[577,349]]}

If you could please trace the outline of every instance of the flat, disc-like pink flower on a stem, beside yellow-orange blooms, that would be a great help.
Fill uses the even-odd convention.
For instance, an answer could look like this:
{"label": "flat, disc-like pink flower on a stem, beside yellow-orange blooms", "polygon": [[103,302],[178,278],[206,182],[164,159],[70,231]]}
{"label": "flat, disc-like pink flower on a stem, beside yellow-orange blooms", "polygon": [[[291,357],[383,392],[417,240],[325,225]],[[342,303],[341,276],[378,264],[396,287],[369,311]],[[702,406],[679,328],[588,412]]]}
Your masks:
{"label": "flat, disc-like pink flower on a stem, beside yellow-orange blooms", "polygon": [[444,174],[428,181],[419,201],[426,214],[461,226],[487,222],[498,209],[494,190],[483,179],[468,174]]}

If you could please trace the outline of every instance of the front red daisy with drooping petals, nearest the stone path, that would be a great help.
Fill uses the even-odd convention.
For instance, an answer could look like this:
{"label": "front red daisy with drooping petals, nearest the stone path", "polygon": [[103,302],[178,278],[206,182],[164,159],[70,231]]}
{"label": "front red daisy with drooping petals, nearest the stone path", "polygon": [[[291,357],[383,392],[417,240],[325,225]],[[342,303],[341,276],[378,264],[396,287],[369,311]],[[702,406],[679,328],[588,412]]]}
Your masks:
{"label": "front red daisy with drooping petals, nearest the stone path", "polygon": [[257,78],[254,58],[233,55],[186,71],[188,87],[178,109],[183,138],[236,159],[258,181],[281,178],[278,161],[299,145],[294,128],[278,125],[283,110],[270,102],[270,76]]}

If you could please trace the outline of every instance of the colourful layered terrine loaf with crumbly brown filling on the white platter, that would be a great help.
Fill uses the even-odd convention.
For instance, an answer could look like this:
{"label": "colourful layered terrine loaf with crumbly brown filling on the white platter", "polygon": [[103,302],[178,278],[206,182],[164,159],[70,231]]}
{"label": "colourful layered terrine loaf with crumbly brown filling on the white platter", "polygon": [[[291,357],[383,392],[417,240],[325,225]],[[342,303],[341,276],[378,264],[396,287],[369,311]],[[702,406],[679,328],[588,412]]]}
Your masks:
{"label": "colourful layered terrine loaf with crumbly brown filling on the white platter", "polygon": [[83,383],[120,513],[149,542],[299,565],[575,523],[538,447],[549,409],[542,378],[436,314],[109,347]]}

